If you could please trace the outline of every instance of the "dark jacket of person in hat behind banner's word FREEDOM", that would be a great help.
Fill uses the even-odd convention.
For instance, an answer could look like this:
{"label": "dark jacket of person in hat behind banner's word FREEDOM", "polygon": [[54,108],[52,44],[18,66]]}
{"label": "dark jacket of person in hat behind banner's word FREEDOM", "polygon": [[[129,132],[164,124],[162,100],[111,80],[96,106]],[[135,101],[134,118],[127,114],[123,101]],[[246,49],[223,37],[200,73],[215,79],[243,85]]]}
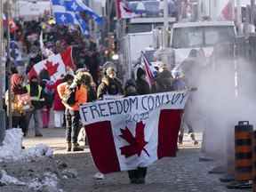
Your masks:
{"label": "dark jacket of person in hat behind banner's word FREEDOM", "polygon": [[103,99],[103,95],[118,95],[123,94],[123,88],[121,82],[117,78],[109,78],[108,76],[103,77],[98,90],[98,99]]}

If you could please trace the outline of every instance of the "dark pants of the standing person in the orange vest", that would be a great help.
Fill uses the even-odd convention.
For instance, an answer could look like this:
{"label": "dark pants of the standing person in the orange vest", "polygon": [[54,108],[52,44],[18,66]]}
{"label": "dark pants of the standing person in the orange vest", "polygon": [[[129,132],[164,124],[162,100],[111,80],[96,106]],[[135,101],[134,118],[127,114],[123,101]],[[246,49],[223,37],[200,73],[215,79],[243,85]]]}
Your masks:
{"label": "dark pants of the standing person in the orange vest", "polygon": [[67,142],[76,143],[79,134],[79,121],[80,114],[79,111],[73,111],[66,109],[66,140]]}

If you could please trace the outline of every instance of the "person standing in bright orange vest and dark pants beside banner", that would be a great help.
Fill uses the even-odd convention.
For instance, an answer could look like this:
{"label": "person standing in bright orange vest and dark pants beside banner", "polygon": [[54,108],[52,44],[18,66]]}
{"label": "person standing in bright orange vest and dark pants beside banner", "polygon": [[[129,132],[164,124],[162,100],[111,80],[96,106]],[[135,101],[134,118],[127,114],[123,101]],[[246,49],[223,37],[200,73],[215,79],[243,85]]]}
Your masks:
{"label": "person standing in bright orange vest and dark pants beside banner", "polygon": [[[70,84],[71,83],[71,84]],[[76,79],[72,82],[72,78],[68,79],[67,83],[60,84],[58,86],[58,92],[60,99],[66,107],[66,140],[67,151],[82,151],[77,143],[77,137],[79,133],[79,106],[87,101],[87,90],[85,87],[83,72],[76,75]],[[67,97],[74,93],[73,104],[67,103]]]}

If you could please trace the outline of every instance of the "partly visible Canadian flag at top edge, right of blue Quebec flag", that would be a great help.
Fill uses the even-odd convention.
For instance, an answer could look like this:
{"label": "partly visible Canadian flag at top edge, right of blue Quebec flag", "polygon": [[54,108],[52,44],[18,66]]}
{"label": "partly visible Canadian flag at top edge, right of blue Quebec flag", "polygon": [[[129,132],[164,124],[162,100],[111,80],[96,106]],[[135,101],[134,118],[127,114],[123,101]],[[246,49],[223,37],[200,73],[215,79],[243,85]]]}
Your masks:
{"label": "partly visible Canadian flag at top edge, right of blue Quebec flag", "polygon": [[116,0],[117,8],[117,18],[119,19],[131,19],[139,17],[140,14],[132,12],[132,10],[127,6],[124,0]]}

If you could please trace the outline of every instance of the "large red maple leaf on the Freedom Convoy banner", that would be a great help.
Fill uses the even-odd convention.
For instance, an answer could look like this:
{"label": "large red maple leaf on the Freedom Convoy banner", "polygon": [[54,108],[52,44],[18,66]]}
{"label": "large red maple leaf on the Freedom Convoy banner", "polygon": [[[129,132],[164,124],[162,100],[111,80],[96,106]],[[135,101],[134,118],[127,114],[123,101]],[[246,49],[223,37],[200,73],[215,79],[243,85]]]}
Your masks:
{"label": "large red maple leaf on the Freedom Convoy banner", "polygon": [[122,134],[119,136],[130,144],[120,148],[123,156],[126,158],[134,156],[135,154],[140,156],[142,150],[149,156],[148,151],[144,148],[148,144],[148,142],[144,140],[144,128],[145,124],[142,122],[137,123],[135,137],[127,127],[125,127],[125,129],[121,129]]}

